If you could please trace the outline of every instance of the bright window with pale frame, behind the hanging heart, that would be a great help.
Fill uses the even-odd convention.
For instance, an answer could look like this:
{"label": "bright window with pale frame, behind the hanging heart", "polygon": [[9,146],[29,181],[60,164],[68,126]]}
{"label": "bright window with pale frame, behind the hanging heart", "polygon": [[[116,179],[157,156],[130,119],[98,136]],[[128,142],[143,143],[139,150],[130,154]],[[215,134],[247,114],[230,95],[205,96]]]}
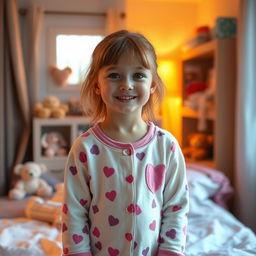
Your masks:
{"label": "bright window with pale frame, behind the hanging heart", "polygon": [[101,31],[96,29],[50,28],[48,30],[47,69],[50,71],[56,66],[60,76],[65,73],[63,70],[67,67],[72,70],[64,86],[58,85],[52,73],[48,72],[49,93],[59,93],[60,89],[62,92],[67,91],[68,94],[70,91],[79,91],[81,81],[84,80],[91,62],[92,52],[103,37]]}

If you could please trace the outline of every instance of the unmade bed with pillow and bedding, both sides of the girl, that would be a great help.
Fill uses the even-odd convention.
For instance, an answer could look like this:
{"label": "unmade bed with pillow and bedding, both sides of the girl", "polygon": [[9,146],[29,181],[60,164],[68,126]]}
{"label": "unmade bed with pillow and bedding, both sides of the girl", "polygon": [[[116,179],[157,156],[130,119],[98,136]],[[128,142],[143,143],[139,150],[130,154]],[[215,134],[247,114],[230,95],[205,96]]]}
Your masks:
{"label": "unmade bed with pillow and bedding, both sides of the girl", "polygon": [[[233,194],[227,178],[217,170],[193,164],[187,165],[187,176],[190,211],[186,256],[255,256],[255,234],[226,209]],[[61,189],[59,184],[50,202],[61,200]],[[42,215],[29,215],[30,199],[18,203],[0,200],[0,255],[60,256],[61,228],[49,219],[43,221]]]}

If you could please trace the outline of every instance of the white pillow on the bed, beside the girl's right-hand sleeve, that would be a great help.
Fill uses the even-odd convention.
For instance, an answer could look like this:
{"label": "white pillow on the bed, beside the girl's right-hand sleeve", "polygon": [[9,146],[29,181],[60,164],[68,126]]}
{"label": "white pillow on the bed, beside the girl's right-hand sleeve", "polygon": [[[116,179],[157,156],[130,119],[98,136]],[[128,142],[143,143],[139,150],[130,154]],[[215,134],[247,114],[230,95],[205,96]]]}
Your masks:
{"label": "white pillow on the bed, beside the girl's right-hand sleeve", "polygon": [[212,181],[206,174],[187,168],[189,194],[200,200],[213,197],[220,188],[220,184]]}

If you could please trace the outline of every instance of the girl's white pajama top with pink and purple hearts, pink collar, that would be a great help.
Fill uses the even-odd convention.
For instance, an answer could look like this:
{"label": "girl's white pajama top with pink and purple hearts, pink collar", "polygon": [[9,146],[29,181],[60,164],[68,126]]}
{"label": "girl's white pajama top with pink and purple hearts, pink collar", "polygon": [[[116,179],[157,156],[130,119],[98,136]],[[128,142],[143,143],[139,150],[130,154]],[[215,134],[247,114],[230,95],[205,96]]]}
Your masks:
{"label": "girl's white pajama top with pink and purple hearts, pink collar", "polygon": [[175,138],[149,123],[135,143],[98,125],[74,142],[66,164],[63,255],[184,255],[188,190]]}

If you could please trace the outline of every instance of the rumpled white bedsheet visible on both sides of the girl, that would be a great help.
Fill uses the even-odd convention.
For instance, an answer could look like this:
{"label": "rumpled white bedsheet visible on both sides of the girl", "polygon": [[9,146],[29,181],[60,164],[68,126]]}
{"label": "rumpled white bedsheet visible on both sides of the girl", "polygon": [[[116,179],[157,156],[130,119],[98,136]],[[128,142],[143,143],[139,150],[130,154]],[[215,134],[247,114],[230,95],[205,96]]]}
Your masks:
{"label": "rumpled white bedsheet visible on both sides of the girl", "polygon": [[[44,222],[2,219],[0,255],[60,256],[60,232]],[[250,229],[211,200],[190,199],[186,256],[255,255],[256,237]]]}

